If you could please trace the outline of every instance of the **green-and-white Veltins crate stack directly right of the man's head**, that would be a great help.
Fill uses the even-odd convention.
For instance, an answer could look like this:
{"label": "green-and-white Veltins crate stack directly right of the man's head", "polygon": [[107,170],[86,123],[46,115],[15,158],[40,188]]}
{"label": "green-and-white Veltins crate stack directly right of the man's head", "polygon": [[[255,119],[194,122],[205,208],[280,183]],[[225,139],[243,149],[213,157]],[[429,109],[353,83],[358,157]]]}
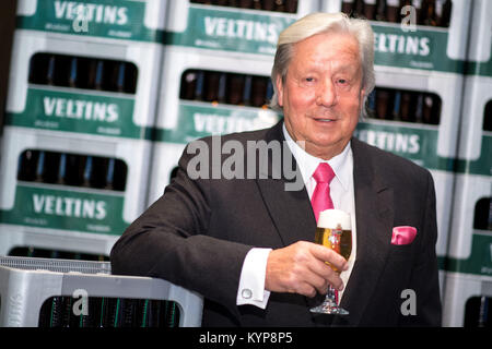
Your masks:
{"label": "green-and-white Veltins crate stack directly right of the man's head", "polygon": [[372,20],[376,87],[355,135],[431,171],[443,289],[471,2],[327,0],[324,10]]}

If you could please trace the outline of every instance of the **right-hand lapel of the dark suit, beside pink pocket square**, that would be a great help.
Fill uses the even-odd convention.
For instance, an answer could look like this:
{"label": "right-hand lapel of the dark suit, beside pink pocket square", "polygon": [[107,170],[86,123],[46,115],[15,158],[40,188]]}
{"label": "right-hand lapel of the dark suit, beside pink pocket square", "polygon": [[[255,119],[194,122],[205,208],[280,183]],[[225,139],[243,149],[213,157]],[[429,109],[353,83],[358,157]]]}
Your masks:
{"label": "right-hand lapel of the dark suit, beside pink pocket square", "polygon": [[358,251],[341,305],[350,312],[333,324],[356,326],[371,301],[389,252],[394,221],[393,189],[376,176],[367,146],[352,139]]}

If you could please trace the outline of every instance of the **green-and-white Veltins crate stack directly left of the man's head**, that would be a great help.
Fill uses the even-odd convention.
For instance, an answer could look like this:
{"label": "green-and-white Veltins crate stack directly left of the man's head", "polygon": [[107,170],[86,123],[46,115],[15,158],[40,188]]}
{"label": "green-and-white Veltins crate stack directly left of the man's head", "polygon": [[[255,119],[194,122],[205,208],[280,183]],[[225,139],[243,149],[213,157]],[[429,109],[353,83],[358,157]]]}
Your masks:
{"label": "green-and-white Veltins crate stack directly left of the man's head", "polygon": [[198,137],[273,125],[267,109],[280,32],[317,0],[169,1],[149,203]]}

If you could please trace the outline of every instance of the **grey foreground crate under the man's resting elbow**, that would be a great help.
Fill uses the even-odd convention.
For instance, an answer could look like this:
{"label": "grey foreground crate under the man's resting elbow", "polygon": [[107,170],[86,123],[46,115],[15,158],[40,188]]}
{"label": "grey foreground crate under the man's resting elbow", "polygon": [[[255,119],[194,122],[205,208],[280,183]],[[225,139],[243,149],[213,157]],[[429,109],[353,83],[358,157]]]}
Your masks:
{"label": "grey foreground crate under the man's resting elbow", "polygon": [[107,262],[0,257],[2,327],[199,327],[202,298]]}

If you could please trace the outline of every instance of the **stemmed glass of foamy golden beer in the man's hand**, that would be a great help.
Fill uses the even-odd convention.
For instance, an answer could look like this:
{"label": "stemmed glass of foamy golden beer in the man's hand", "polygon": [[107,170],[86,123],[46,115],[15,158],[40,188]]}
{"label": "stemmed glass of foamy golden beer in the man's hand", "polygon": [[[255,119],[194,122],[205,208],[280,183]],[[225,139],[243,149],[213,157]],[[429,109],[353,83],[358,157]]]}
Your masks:
{"label": "stemmed glass of foamy golden beer in the man's hand", "polygon": [[[318,226],[316,228],[315,242],[333,250],[349,260],[352,252],[352,227],[350,215],[340,209],[326,209],[319,213]],[[329,263],[326,262],[328,265]],[[339,270],[330,265],[331,268]],[[328,288],[325,301],[311,309],[313,313],[348,315],[349,312],[338,306],[336,290]]]}

